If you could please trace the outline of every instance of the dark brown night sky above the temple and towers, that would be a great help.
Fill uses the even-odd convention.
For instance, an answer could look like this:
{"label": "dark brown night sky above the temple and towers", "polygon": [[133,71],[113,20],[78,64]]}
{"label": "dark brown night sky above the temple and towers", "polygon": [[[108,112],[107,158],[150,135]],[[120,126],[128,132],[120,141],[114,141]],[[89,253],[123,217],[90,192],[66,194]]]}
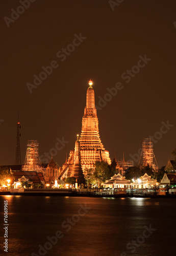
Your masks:
{"label": "dark brown night sky above the temple and towers", "polygon": [[[97,110],[100,138],[111,159],[115,149],[116,158],[124,152],[129,160],[138,153],[144,137],[156,136],[154,152],[159,167],[166,165],[176,144],[176,2],[124,0],[114,11],[108,0],[36,0],[24,11],[20,5],[7,0],[1,2],[0,9],[0,164],[14,164],[19,112],[22,162],[28,139],[38,140],[41,156],[63,138],[69,143],[54,154],[54,160],[62,165],[66,150],[74,149],[81,132],[91,78],[96,105],[99,97],[108,93],[107,88],[122,83],[122,89]],[[4,17],[11,18],[11,9],[17,8],[23,13],[8,27]],[[80,33],[86,38],[73,51],[69,46],[72,52],[62,61],[57,52]],[[145,55],[151,60],[143,68],[135,67],[138,73],[132,73],[134,77],[127,83],[123,73]],[[27,83],[33,83],[34,75],[54,60],[59,67],[30,93]],[[163,134],[162,122],[170,125]]]}

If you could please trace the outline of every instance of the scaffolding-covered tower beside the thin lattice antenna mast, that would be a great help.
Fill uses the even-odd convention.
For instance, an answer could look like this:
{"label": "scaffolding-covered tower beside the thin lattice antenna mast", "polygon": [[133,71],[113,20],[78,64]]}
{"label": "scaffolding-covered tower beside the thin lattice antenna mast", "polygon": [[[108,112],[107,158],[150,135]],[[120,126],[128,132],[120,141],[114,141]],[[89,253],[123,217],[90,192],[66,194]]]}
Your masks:
{"label": "scaffolding-covered tower beside the thin lattice antenna mast", "polygon": [[43,166],[38,154],[38,142],[37,140],[28,140],[27,154],[22,165],[24,171],[35,171],[37,173],[43,172]]}

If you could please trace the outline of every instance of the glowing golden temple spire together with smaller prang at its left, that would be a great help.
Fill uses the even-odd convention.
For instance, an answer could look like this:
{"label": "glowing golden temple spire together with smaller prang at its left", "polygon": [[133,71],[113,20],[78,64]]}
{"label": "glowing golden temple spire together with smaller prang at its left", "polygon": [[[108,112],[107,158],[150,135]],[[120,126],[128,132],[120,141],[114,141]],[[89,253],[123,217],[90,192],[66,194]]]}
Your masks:
{"label": "glowing golden temple spire together with smaller prang at its left", "polygon": [[60,168],[61,175],[59,178],[76,177],[80,180],[86,169],[94,168],[94,163],[97,161],[106,161],[111,164],[109,152],[105,150],[99,137],[94,90],[90,80],[81,135],[80,138],[77,138],[75,149],[70,151],[68,160],[66,159],[66,162]]}

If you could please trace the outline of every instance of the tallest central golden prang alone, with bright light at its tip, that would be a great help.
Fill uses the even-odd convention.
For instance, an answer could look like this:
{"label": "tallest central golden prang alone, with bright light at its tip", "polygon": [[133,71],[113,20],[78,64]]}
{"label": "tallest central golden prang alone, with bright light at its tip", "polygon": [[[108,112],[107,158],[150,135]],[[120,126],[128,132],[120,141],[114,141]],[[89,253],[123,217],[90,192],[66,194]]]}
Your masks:
{"label": "tallest central golden prang alone, with bright light at its tip", "polygon": [[82,131],[80,136],[81,165],[84,170],[93,168],[96,161],[107,161],[111,164],[109,152],[105,150],[99,137],[98,118],[96,115],[94,90],[92,81],[86,95],[86,107],[82,119]]}

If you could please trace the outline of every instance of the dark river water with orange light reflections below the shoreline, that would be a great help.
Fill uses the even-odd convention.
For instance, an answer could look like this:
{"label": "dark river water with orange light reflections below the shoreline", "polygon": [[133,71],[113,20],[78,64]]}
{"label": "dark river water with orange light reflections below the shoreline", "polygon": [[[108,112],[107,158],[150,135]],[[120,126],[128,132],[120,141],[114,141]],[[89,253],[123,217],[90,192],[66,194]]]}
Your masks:
{"label": "dark river water with orange light reflections below the shoreline", "polygon": [[175,255],[174,198],[0,196],[0,205],[0,255]]}

